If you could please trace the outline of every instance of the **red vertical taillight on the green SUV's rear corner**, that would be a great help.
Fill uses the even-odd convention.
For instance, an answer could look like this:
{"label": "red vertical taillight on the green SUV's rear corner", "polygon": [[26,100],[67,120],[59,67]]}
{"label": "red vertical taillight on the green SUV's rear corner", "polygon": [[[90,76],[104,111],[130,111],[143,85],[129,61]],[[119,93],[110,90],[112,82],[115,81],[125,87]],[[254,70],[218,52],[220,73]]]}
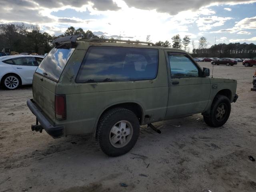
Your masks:
{"label": "red vertical taillight on the green SUV's rear corner", "polygon": [[58,120],[66,119],[66,96],[55,95],[55,117]]}

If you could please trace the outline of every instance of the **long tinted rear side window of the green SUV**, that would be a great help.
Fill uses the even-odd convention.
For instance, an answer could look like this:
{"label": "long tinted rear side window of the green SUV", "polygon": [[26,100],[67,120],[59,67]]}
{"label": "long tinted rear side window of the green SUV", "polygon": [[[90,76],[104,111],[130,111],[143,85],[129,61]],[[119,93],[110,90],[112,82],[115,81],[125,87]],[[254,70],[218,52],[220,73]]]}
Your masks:
{"label": "long tinted rear side window of the green SUV", "polygon": [[157,71],[157,49],[91,46],[76,82],[150,80],[156,78]]}

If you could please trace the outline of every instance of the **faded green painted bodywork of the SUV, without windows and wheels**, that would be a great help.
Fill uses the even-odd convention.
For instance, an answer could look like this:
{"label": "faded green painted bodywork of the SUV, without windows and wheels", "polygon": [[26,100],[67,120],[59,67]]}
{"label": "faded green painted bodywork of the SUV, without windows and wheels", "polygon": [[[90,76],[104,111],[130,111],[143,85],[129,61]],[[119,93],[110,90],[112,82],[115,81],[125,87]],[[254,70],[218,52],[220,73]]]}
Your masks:
{"label": "faded green painted bodywork of the SUV, without windows and wheels", "polygon": [[[229,89],[232,99],[236,80],[209,77],[179,78],[172,84],[166,52],[172,48],[119,43],[77,42],[58,82],[34,75],[34,101],[55,125],[65,126],[65,135],[93,133],[102,113],[122,103],[136,103],[142,110],[141,125],[178,116],[207,112],[218,91]],[[90,46],[125,46],[154,48],[159,51],[158,74],[153,80],[127,82],[76,83],[76,75]],[[202,71],[202,69],[198,66]],[[40,80],[43,78],[43,80]],[[217,84],[217,88],[212,88]],[[66,120],[56,120],[54,95],[66,95]],[[231,100],[232,101],[232,100]],[[145,118],[146,116],[146,118]]]}

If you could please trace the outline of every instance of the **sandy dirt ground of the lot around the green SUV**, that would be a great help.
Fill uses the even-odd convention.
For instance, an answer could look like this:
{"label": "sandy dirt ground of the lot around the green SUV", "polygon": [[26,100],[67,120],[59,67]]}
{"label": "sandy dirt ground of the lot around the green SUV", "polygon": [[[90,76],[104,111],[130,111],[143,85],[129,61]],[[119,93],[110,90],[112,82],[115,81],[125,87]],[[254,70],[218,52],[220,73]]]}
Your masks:
{"label": "sandy dirt ground of the lot around the green SUV", "polygon": [[[210,63],[199,64],[212,73]],[[134,148],[116,158],[90,135],[32,132],[32,87],[0,89],[0,192],[255,192],[256,162],[248,158],[256,158],[255,70],[214,66],[215,77],[238,80],[239,98],[224,126],[210,128],[196,114],[155,123],[162,134],[141,127]]]}

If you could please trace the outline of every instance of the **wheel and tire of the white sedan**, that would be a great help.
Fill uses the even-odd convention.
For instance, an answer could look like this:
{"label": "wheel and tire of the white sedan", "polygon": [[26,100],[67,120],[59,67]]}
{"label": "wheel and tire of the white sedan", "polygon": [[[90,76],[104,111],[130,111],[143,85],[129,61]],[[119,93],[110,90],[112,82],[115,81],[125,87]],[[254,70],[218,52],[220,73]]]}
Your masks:
{"label": "wheel and tire of the white sedan", "polygon": [[[5,82],[10,82],[9,84]],[[7,74],[4,76],[1,80],[1,85],[3,86],[4,89],[7,90],[14,90],[17,89],[21,85],[21,80],[20,77],[16,74]],[[10,85],[10,86],[8,86]]]}

